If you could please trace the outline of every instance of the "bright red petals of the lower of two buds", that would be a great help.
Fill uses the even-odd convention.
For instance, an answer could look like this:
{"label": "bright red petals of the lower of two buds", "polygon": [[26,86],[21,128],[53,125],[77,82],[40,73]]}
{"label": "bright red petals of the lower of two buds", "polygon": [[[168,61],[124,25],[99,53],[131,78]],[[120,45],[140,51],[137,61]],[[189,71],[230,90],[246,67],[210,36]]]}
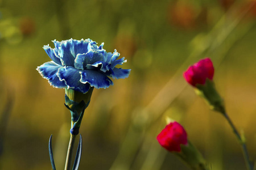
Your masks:
{"label": "bright red petals of the lower of two buds", "polygon": [[187,145],[187,133],[178,122],[171,122],[156,137],[161,146],[168,151],[180,152],[180,145]]}

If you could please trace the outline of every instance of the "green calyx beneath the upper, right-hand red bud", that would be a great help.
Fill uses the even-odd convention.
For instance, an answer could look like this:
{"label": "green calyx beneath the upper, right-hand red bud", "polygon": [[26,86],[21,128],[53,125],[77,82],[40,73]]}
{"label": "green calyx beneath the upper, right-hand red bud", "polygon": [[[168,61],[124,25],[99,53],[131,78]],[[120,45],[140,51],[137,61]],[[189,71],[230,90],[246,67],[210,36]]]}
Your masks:
{"label": "green calyx beneath the upper, right-hand red bud", "polygon": [[210,109],[225,114],[224,101],[216,91],[212,80],[206,79],[205,84],[196,84],[195,91],[207,101]]}

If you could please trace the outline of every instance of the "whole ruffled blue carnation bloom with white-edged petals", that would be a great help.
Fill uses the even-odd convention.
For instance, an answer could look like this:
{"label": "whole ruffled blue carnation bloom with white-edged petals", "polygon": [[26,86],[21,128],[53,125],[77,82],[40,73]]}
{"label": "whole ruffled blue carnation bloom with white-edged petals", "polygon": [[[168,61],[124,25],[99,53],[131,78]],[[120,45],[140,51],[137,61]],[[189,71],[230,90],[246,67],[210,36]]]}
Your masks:
{"label": "whole ruffled blue carnation bloom with white-edged petals", "polygon": [[118,59],[120,54],[117,50],[107,53],[102,48],[104,43],[97,46],[90,39],[52,42],[55,48],[52,49],[49,45],[43,47],[52,61],[44,63],[36,70],[53,87],[85,94],[90,87],[108,88],[113,85],[110,78],[127,78],[130,74],[130,69],[115,67],[126,62],[125,57]]}

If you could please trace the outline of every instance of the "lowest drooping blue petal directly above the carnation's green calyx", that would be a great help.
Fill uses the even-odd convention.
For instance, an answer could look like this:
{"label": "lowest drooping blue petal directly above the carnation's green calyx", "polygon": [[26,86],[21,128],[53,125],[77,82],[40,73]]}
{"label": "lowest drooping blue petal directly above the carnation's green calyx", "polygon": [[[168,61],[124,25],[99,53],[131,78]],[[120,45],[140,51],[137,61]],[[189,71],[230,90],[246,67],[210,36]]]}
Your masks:
{"label": "lowest drooping blue petal directly above the carnation's green calyx", "polygon": [[59,76],[59,78],[67,84],[68,88],[80,91],[83,94],[88,92],[90,88],[89,83],[80,82],[81,74],[79,73],[79,70],[73,67],[68,66],[60,68],[57,73],[57,76]]}

